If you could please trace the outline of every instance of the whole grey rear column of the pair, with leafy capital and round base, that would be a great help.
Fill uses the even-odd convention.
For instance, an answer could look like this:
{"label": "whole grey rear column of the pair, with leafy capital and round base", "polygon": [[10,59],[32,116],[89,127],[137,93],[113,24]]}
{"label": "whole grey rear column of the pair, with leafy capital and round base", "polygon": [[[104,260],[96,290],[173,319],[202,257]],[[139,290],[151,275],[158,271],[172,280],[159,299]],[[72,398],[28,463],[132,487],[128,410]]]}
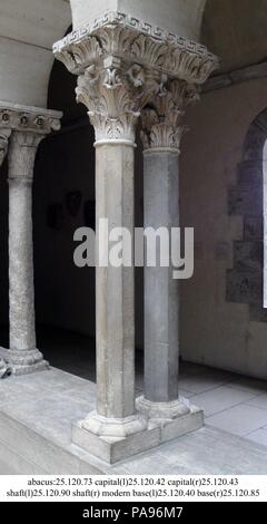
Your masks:
{"label": "whole grey rear column of the pair, with leafy capital and round base", "polygon": [[[145,227],[166,227],[169,237],[179,227],[180,120],[196,99],[194,86],[171,80],[142,111]],[[171,262],[160,266],[158,259],[156,266],[145,265],[145,392],[137,406],[149,419],[162,421],[190,414],[178,392],[179,282],[172,273]]]}

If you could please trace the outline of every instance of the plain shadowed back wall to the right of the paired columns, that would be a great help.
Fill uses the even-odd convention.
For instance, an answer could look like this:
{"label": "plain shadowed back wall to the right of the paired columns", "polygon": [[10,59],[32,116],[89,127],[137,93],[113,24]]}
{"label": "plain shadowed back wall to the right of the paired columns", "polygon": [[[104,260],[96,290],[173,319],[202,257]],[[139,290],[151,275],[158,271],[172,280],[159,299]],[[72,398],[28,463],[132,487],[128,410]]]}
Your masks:
{"label": "plain shadowed back wall to the right of the paired columns", "polygon": [[[260,378],[267,378],[263,244],[249,249],[244,215],[263,212],[263,169],[244,172],[244,144],[266,93],[260,79],[205,94],[188,111],[181,155],[182,224],[195,227],[196,241],[195,275],[181,284],[182,357]],[[249,229],[253,242],[260,242],[258,231]]]}

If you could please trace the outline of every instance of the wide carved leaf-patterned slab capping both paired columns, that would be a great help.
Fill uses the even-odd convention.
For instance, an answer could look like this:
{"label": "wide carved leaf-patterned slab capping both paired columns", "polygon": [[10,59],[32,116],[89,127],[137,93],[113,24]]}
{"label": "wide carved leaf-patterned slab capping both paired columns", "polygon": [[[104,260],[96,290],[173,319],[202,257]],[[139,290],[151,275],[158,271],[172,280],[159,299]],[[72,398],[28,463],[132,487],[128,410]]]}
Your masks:
{"label": "wide carved leaf-patterned slab capping both paired columns", "polygon": [[[111,32],[113,37],[110,40]],[[105,43],[105,33],[109,35],[106,43],[112,41],[112,45]],[[79,49],[92,38],[101,41],[103,54],[136,60],[139,65],[152,66],[190,83],[205,83],[219,66],[217,57],[208,52],[205,46],[116,11],[67,35],[55,43],[53,52],[69,70],[79,75],[86,65],[83,58],[80,61],[82,52]]]}

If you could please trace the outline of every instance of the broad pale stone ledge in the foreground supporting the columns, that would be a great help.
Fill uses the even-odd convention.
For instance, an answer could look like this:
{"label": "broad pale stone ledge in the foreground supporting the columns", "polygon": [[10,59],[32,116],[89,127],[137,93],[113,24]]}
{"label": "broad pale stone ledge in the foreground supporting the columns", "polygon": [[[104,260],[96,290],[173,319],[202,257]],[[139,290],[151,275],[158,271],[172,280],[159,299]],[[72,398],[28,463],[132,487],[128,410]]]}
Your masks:
{"label": "broad pale stone ledge in the foreground supporting the columns", "polygon": [[0,388],[0,474],[267,474],[267,447],[208,425],[110,466],[70,440],[95,405],[93,382],[51,369]]}

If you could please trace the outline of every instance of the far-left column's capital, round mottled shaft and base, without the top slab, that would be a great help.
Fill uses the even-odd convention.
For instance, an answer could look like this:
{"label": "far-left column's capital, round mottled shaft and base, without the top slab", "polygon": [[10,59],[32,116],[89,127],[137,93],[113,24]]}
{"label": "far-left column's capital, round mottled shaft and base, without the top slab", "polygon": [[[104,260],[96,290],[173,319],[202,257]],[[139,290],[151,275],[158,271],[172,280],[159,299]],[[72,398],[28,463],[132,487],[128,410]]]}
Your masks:
{"label": "far-left column's capital, round mottled shaft and base, without the top slab", "polygon": [[32,182],[37,148],[43,137],[14,132],[9,151],[9,322],[7,355],[14,373],[46,369],[36,347]]}

